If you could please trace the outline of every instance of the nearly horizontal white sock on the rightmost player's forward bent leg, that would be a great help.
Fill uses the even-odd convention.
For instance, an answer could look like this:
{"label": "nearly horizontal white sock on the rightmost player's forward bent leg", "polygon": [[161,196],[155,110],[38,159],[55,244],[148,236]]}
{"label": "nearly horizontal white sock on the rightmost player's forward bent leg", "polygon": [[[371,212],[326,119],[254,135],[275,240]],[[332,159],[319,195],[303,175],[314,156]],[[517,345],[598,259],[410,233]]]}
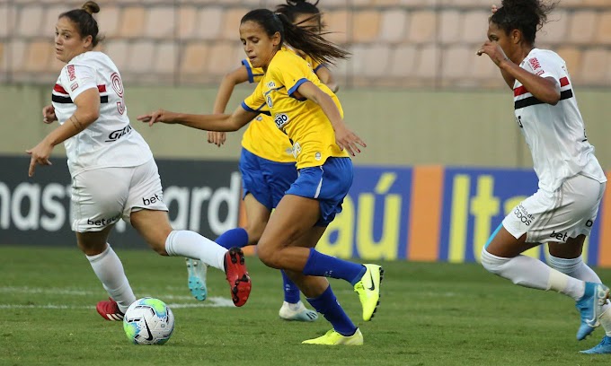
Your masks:
{"label": "nearly horizontal white sock on the rightmost player's forward bent leg", "polygon": [[578,301],[585,292],[585,283],[527,256],[504,258],[483,248],[482,265],[489,272],[507,278],[512,283],[538,290],[553,290]]}

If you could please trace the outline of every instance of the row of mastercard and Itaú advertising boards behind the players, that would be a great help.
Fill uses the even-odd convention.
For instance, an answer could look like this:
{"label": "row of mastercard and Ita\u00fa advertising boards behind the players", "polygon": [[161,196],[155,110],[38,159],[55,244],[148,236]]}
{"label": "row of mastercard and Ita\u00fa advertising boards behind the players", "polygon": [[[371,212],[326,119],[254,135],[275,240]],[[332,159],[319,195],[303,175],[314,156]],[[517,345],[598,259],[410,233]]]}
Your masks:
{"label": "row of mastercard and Ita\u00fa advertising boards behind the players", "polygon": [[[54,162],[28,179],[27,157],[0,156],[0,245],[75,245],[66,160]],[[236,161],[157,163],[174,228],[214,239],[244,225]],[[491,232],[536,187],[528,169],[357,166],[343,211],[317,248],[367,260],[478,261]],[[593,266],[611,266],[610,211],[607,190],[584,246],[584,260]],[[117,224],[110,242],[116,248],[146,247],[125,222]],[[547,251],[533,248],[527,255],[545,259]]]}

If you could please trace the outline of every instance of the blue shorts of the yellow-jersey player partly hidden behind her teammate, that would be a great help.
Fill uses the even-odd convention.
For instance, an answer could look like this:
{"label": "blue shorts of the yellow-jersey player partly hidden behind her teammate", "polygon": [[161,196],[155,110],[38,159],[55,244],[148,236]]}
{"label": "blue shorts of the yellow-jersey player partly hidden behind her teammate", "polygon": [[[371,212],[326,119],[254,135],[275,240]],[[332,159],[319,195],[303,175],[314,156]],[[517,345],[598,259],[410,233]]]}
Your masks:
{"label": "blue shorts of the yellow-jersey player partly hidden behind her teammate", "polygon": [[276,208],[284,193],[297,179],[294,162],[269,161],[244,148],[242,148],[239,168],[242,173],[244,196],[250,193],[270,211]]}

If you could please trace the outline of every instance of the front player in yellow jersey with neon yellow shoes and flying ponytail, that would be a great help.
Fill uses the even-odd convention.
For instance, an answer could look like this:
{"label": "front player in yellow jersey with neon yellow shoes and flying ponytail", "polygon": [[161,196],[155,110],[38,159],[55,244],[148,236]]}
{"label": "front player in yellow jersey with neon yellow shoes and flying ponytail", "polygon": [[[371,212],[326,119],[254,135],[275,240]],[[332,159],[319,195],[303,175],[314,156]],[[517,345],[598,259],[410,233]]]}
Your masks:
{"label": "front player in yellow jersey with neon yellow shoes and flying ponytail", "polygon": [[362,344],[363,336],[341,309],[323,276],[354,285],[363,307],[363,320],[372,318],[379,300],[383,270],[325,256],[314,249],[329,222],[341,211],[341,202],[352,183],[350,155],[365,143],[344,124],[341,105],[306,61],[283,47],[293,48],[318,62],[331,62],[347,53],[320,35],[302,30],[283,14],[267,9],[246,13],[240,39],[252,67],[265,75],[257,88],[232,115],[189,115],[163,109],[138,117],[156,122],[235,131],[270,109],[276,126],[288,135],[297,159],[299,176],[271,215],[258,244],[267,266],[285,270],[307,301],[332,323],[333,329],[306,344]]}

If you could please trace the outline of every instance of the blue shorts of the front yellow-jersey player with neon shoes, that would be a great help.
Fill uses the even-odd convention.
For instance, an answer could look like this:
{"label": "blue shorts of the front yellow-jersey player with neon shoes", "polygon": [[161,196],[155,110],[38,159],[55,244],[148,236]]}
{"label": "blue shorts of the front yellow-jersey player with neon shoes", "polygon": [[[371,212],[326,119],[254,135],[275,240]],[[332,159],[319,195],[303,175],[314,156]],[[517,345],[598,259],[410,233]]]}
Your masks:
{"label": "blue shorts of the front yellow-jersey player with neon shoes", "polygon": [[350,158],[329,158],[320,167],[299,170],[299,178],[287,191],[287,195],[318,200],[321,217],[316,226],[327,226],[341,213],[341,203],[352,185],[352,161]]}

